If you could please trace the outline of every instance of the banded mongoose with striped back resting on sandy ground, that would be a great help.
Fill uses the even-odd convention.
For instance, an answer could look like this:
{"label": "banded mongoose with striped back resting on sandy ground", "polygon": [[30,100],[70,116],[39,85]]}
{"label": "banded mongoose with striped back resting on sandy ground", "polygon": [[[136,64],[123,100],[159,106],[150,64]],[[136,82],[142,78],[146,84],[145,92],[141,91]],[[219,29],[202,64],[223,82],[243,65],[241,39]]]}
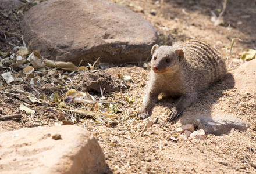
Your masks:
{"label": "banded mongoose with striped back resting on sandy ground", "polygon": [[139,117],[149,116],[152,107],[163,93],[180,97],[170,111],[170,121],[179,117],[190,106],[200,90],[223,78],[225,61],[221,54],[200,40],[190,40],[173,46],[158,46],[151,50],[151,71]]}

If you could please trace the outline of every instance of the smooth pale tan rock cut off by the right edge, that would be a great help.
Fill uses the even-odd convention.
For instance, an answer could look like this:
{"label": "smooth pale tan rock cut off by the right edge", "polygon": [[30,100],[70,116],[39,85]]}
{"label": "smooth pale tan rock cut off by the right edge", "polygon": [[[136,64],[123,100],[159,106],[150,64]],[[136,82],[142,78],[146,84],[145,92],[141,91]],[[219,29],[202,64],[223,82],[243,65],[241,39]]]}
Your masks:
{"label": "smooth pale tan rock cut off by the right edge", "polygon": [[234,87],[241,92],[256,92],[256,59],[237,68],[234,73]]}

